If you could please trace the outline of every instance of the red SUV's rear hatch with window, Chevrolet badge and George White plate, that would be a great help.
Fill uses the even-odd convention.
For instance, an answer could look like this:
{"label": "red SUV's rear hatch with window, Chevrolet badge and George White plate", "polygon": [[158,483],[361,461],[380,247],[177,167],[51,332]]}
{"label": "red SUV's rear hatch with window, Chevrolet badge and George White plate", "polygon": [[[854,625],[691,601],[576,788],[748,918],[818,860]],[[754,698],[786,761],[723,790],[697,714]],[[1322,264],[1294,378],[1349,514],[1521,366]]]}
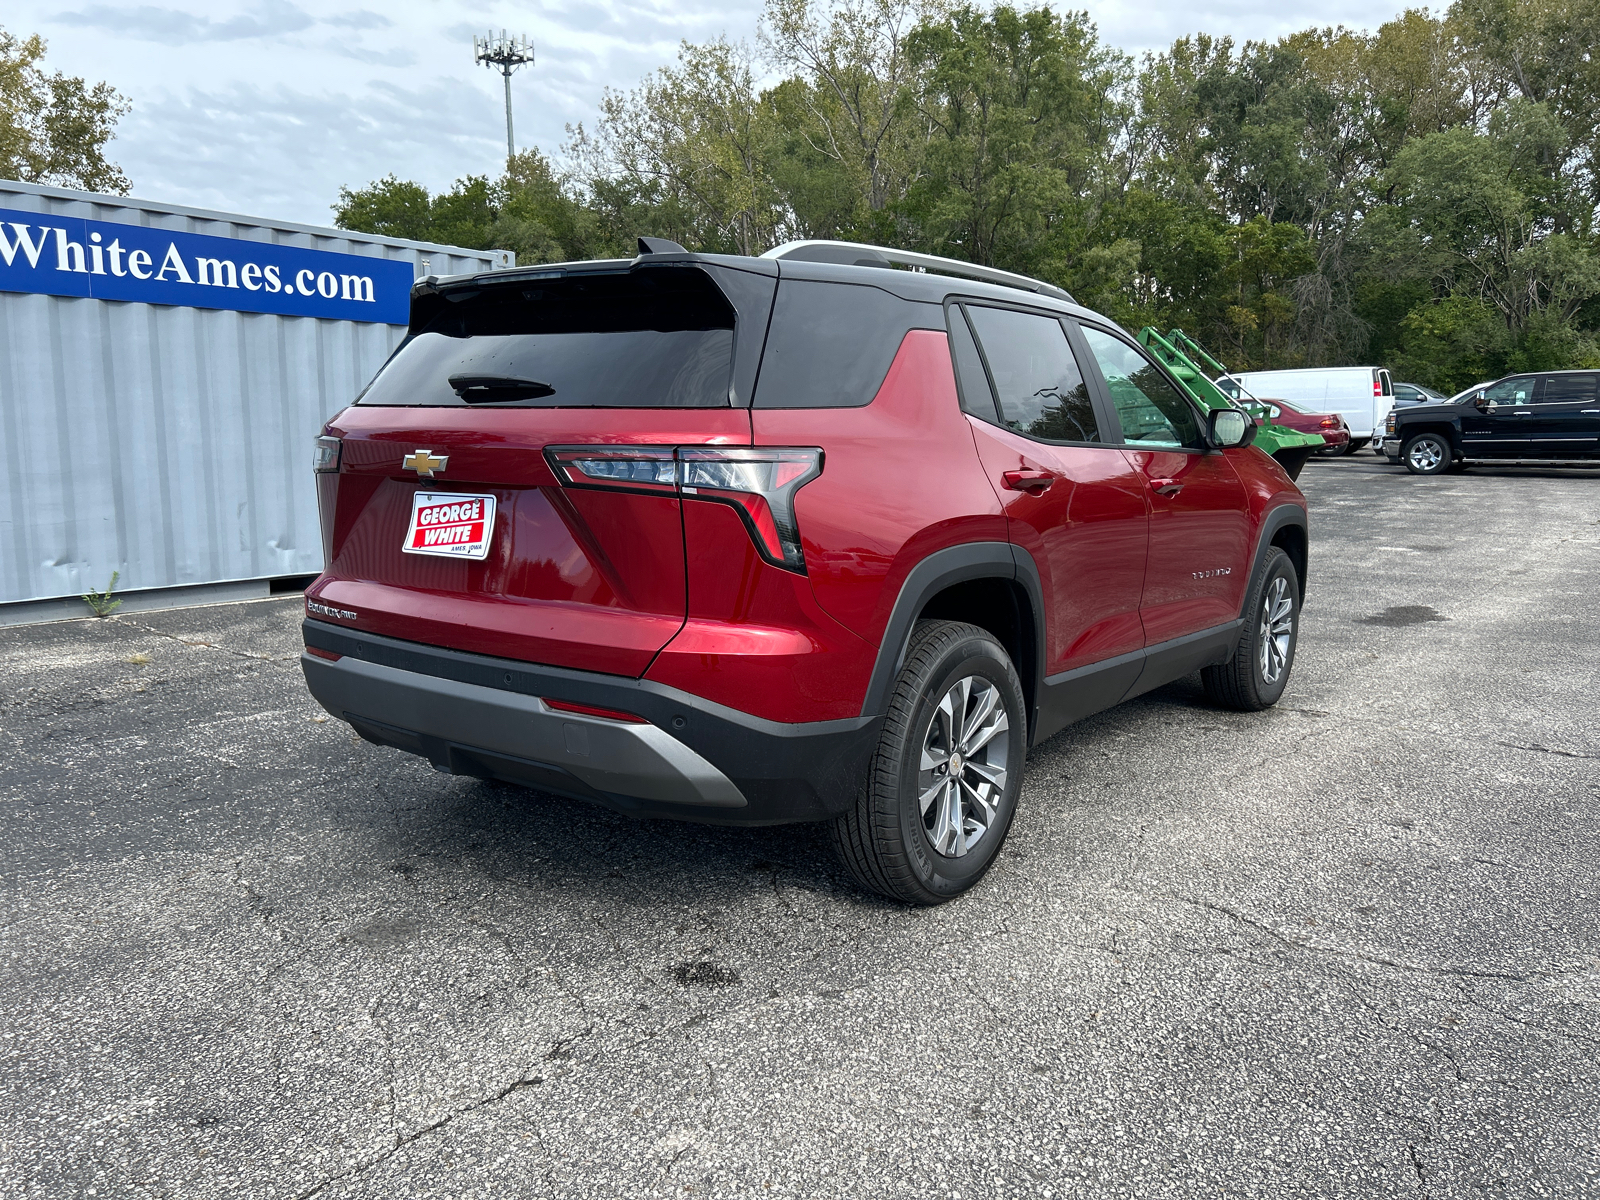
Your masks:
{"label": "red SUV's rear hatch with window, Chevrolet badge and George White plate", "polygon": [[642,675],[686,613],[680,448],[750,445],[765,266],[642,256],[419,288],[320,443],[309,614]]}

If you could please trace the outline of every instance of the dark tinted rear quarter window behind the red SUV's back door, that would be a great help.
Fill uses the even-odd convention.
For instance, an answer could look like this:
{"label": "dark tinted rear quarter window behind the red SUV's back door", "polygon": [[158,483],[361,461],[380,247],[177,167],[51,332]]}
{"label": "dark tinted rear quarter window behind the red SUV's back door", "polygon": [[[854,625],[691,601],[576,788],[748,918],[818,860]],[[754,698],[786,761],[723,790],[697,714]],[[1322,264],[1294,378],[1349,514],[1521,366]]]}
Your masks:
{"label": "dark tinted rear quarter window behind the red SUV's back door", "polygon": [[779,280],[755,406],[869,405],[910,330],[944,333],[944,309],[869,285]]}

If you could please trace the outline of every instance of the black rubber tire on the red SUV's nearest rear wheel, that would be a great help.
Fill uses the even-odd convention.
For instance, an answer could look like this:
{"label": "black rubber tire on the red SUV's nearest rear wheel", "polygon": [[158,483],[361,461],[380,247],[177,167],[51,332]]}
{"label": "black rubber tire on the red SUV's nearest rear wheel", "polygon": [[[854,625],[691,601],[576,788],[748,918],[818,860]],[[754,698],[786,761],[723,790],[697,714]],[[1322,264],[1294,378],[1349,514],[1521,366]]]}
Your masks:
{"label": "black rubber tire on the red SUV's nearest rear wheel", "polygon": [[[973,678],[981,683],[974,685]],[[954,822],[942,826],[942,835],[949,835],[954,824],[968,827],[966,808],[947,810],[946,797],[955,795],[965,803],[968,792],[974,797],[978,794],[966,784],[976,782],[982,789],[984,779],[994,771],[992,757],[981,766],[957,762],[955,774],[963,782],[949,792],[941,790],[930,803],[928,813],[923,813],[922,776],[933,779],[933,787],[939,786],[938,768],[922,770],[923,749],[939,741],[939,728],[947,728],[946,725],[936,728],[934,722],[944,712],[941,704],[946,696],[963,682],[973,688],[974,699],[968,709],[971,717],[981,712],[981,702],[976,699],[979,694],[982,701],[994,694],[995,704],[990,712],[1003,707],[1005,730],[994,733],[981,750],[974,747],[973,757],[989,755],[989,746],[1005,742],[1005,779],[1003,786],[989,784],[984,792],[992,800],[987,822],[979,821],[984,811],[974,803],[971,826],[981,832],[971,845],[957,835],[962,848],[955,853],[941,853],[936,838],[941,837],[938,818],[942,813],[957,813]],[[968,714],[963,714],[963,720]],[[990,725],[998,725],[997,717]],[[960,749],[960,744],[954,746],[946,758],[946,779],[950,776],[947,765],[957,760]],[[834,845],[840,859],[861,886],[890,899],[906,904],[942,904],[960,896],[984,877],[1005,843],[1022,786],[1026,754],[1027,709],[1022,683],[1005,648],[978,626],[958,621],[918,621],[906,648],[906,666],[901,667],[890,694],[888,717],[867,770],[866,786],[856,803],[834,821]],[[930,821],[934,827],[930,827]],[[955,842],[949,845],[954,848]]]}

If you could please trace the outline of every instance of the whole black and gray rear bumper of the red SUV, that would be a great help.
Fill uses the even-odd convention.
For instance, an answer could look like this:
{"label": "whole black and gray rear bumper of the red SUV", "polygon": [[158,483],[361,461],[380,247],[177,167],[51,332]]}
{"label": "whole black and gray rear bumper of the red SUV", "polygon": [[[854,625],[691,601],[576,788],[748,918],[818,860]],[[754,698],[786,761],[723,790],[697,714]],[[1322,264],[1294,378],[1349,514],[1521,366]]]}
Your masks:
{"label": "whole black and gray rear bumper of the red SUV", "polygon": [[[819,821],[854,802],[880,718],[782,725],[646,680],[302,626],[312,696],[371,742],[440,771],[541,787],[635,816]],[[643,723],[552,709],[632,712]]]}

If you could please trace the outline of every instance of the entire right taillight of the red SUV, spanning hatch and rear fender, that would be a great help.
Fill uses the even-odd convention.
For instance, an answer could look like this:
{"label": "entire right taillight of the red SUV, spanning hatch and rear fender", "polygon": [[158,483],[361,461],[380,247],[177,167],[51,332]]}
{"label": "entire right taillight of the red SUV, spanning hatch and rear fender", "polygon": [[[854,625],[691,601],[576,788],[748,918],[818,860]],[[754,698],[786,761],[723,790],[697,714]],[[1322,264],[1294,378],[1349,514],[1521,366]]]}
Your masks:
{"label": "entire right taillight of the red SUV, spanning hatch and rear fender", "polygon": [[550,446],[555,477],[570,488],[605,488],[726,504],[773,566],[805,574],[795,493],[822,474],[813,446]]}

